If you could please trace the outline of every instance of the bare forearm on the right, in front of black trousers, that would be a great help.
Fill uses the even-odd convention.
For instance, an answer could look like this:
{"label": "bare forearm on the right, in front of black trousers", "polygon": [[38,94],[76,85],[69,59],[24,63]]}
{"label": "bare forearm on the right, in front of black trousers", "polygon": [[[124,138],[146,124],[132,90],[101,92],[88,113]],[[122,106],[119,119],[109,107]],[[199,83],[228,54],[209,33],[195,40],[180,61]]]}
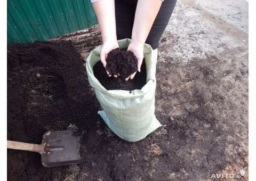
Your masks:
{"label": "bare forearm on the right, in front of black trousers", "polygon": [[161,7],[161,0],[139,0],[132,29],[132,42],[144,44]]}

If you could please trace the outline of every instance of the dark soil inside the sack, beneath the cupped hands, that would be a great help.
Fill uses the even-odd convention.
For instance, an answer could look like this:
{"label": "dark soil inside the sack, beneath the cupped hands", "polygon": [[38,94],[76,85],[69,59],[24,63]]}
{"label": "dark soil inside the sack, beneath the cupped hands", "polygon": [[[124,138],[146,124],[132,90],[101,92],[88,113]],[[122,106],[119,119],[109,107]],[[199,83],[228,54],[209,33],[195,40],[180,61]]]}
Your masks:
{"label": "dark soil inside the sack, beneath the cupped hands", "polygon": [[94,76],[99,80],[100,84],[107,90],[125,90],[132,91],[135,89],[141,89],[146,84],[147,73],[145,60],[142,61],[141,71],[137,72],[135,77],[131,80],[125,81],[123,77],[114,76],[108,77],[105,68],[99,61],[93,66]]}

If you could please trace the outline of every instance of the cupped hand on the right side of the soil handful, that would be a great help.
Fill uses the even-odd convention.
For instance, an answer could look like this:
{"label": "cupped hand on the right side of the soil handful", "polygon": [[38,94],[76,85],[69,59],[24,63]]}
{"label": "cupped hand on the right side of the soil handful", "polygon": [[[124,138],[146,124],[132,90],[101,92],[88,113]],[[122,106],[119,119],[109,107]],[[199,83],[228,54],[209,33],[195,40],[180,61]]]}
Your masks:
{"label": "cupped hand on the right side of the soil handful", "polygon": [[[127,48],[127,51],[131,51],[133,52],[133,54],[137,57],[138,59],[138,64],[137,64],[137,71],[140,72],[140,67],[142,64],[142,60],[143,60],[143,44],[139,43],[139,42],[135,42],[135,41],[131,41],[130,45]],[[133,77],[135,76],[136,72],[132,73],[129,77],[127,77],[125,80],[129,80],[133,79]]]}

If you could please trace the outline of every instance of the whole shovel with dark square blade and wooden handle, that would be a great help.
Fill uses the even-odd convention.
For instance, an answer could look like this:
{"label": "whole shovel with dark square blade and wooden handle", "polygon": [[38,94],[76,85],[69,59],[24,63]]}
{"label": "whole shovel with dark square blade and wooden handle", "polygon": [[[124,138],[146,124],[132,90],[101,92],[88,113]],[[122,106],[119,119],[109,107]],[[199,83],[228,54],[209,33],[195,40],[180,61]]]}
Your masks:
{"label": "whole shovel with dark square blade and wooden handle", "polygon": [[7,140],[7,149],[27,150],[41,154],[44,167],[76,164],[81,159],[81,136],[77,131],[47,131],[42,144],[30,144]]}

